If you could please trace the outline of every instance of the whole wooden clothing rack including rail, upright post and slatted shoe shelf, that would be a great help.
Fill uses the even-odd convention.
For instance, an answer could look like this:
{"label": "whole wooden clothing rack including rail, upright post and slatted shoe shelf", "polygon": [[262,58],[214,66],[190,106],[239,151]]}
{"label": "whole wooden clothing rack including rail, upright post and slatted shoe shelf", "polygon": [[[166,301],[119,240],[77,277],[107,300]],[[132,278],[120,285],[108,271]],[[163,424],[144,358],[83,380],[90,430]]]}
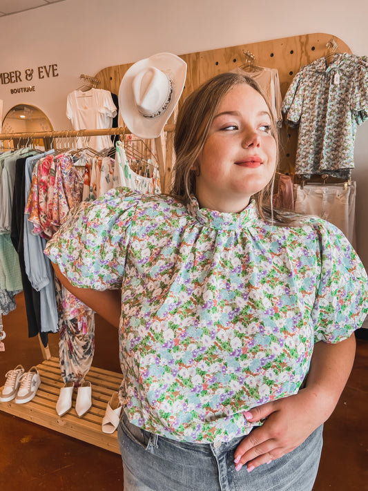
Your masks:
{"label": "whole wooden clothing rack including rail, upright post and slatted shoe shelf", "polygon": [[[171,121],[173,121],[173,119],[171,119]],[[155,138],[159,178],[162,190],[164,190],[165,177],[169,177],[173,165],[174,130],[175,124],[166,124],[164,127],[166,135],[162,133],[162,135]],[[14,143],[17,144],[17,140],[21,140],[21,144],[25,145],[28,144],[28,142],[32,142],[32,140],[46,138],[50,139],[50,142],[47,143],[52,146],[53,139],[58,138],[91,137],[99,135],[123,136],[129,134],[131,134],[131,132],[128,128],[42,131],[35,133],[0,133],[0,142],[3,140],[13,140]],[[164,144],[166,144],[165,154]],[[0,314],[0,330],[2,330],[1,328],[2,316]],[[119,389],[119,385],[122,381],[122,374],[93,366],[90,367],[90,370],[86,375],[86,381],[93,385],[92,406],[90,407],[90,410],[83,418],[79,418],[74,409],[65,416],[60,417],[55,411],[60,389],[64,385],[60,373],[59,358],[51,356],[49,347],[43,347],[40,337],[39,344],[43,361],[37,365],[37,369],[41,376],[41,385],[35,398],[27,404],[15,404],[14,401],[0,403],[0,411],[26,419],[26,421],[32,421],[33,423],[48,427],[51,430],[55,430],[119,454],[116,432],[113,434],[101,432],[101,423],[110,397]]]}

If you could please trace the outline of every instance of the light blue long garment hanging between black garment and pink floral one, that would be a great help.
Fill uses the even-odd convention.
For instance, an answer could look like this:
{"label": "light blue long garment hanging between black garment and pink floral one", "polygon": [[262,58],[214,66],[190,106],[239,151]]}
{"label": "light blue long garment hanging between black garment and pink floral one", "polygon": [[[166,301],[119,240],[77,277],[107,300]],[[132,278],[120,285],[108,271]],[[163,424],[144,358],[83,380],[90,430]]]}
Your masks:
{"label": "light blue long garment hanging between black garment and pink floral one", "polygon": [[[26,202],[30,192],[32,182],[32,170],[36,162],[45,155],[52,153],[48,151],[42,155],[29,157],[26,160],[25,171],[25,186]],[[24,263],[26,265],[26,273],[32,287],[39,291],[40,307],[41,307],[41,331],[42,332],[57,332],[58,317],[57,305],[55,298],[54,280],[50,260],[43,254],[43,249],[46,246],[46,241],[41,239],[40,235],[32,233],[33,224],[28,222],[29,215],[24,214]]]}

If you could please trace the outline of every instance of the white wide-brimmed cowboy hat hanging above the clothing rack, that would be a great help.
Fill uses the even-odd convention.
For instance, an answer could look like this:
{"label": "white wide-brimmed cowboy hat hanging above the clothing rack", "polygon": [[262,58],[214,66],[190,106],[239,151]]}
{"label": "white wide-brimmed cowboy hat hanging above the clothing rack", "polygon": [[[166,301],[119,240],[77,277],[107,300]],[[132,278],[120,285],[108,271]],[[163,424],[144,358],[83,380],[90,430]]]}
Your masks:
{"label": "white wide-brimmed cowboy hat hanging above the clothing rack", "polygon": [[172,53],[158,53],[133,64],[119,88],[119,110],[129,130],[156,138],[182,95],[186,63]]}

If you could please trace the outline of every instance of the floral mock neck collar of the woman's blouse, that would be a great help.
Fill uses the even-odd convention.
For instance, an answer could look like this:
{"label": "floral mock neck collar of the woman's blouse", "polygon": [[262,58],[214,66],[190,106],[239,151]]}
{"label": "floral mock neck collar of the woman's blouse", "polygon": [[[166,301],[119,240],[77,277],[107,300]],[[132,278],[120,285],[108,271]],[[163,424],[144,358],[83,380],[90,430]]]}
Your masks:
{"label": "floral mock neck collar of the woman's blouse", "polygon": [[249,228],[258,218],[254,200],[240,213],[223,213],[208,208],[200,208],[197,198],[193,195],[186,206],[193,218],[211,229],[238,230],[240,228]]}

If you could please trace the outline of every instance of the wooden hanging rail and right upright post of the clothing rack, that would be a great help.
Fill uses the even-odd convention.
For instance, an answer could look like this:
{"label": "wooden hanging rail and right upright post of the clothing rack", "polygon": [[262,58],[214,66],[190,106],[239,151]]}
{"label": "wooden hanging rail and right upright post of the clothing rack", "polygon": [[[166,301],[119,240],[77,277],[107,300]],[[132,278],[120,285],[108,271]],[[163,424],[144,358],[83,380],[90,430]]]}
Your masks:
{"label": "wooden hanging rail and right upright post of the clothing rack", "polygon": [[[162,185],[162,190],[165,190],[166,184],[166,171],[171,172],[172,169],[172,149],[168,142],[172,142],[173,138],[171,134],[175,130],[175,124],[166,124],[164,126],[164,132],[168,134],[166,141],[166,155],[164,155],[164,132],[159,137],[155,138],[155,146],[157,151],[157,164],[159,168],[159,180]],[[65,130],[65,131],[37,131],[35,133],[0,133],[1,140],[14,140],[22,139],[32,141],[34,139],[43,138],[73,138],[73,137],[92,137],[100,135],[130,135],[132,134],[128,128],[106,128],[101,130]]]}

